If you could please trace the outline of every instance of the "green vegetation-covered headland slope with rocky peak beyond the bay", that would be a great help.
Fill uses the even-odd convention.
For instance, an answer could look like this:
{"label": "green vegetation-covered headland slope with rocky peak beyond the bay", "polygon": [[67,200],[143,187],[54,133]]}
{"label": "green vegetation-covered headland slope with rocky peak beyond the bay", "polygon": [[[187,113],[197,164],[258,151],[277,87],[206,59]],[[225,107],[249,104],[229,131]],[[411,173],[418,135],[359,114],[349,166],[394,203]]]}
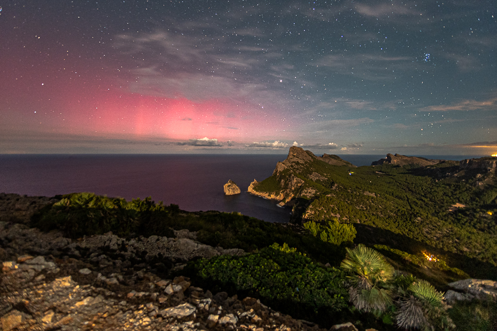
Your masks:
{"label": "green vegetation-covered headland slope with rocky peak beyond the bay", "polygon": [[356,168],[291,147],[273,175],[252,183],[249,191],[279,197],[293,208],[296,223],[336,218],[354,224],[356,243],[420,257],[432,251],[472,276],[497,279],[496,162]]}

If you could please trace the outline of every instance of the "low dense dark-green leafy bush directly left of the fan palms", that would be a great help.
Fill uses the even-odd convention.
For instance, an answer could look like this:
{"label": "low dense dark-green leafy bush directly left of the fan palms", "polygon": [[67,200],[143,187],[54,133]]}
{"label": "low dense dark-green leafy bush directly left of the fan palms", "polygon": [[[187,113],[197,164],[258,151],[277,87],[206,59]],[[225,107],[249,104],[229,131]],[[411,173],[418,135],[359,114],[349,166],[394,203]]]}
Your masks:
{"label": "low dense dark-green leafy bush directly left of the fan palms", "polygon": [[242,291],[287,313],[306,316],[320,309],[339,312],[348,306],[341,270],[320,266],[285,244],[243,257],[202,259],[189,268],[204,286],[218,284]]}

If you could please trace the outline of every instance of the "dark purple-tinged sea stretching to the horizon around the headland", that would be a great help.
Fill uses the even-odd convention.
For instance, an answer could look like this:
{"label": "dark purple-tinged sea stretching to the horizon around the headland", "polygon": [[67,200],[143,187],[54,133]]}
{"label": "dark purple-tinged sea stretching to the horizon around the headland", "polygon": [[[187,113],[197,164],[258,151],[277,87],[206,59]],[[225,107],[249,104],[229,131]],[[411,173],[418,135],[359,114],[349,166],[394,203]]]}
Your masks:
{"label": "dark purple-tinged sea stretching to the horizon around the headland", "polygon": [[[268,222],[288,222],[290,209],[246,191],[271,176],[286,154],[0,154],[0,193],[47,196],[92,192],[127,200],[151,197],[183,210],[240,212]],[[356,166],[385,155],[339,155]],[[422,155],[418,155],[422,156]],[[462,160],[481,156],[429,155]],[[225,196],[234,181],[242,193]]]}

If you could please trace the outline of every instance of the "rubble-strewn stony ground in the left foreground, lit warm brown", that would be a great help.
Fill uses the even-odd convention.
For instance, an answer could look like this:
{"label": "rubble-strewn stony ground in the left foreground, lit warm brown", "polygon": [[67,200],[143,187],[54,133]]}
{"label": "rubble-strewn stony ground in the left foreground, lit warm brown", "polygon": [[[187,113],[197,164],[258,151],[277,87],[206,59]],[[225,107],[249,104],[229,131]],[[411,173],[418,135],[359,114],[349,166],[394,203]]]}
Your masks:
{"label": "rubble-strewn stony ground in the left foreground, lit warm brown", "polygon": [[1,330],[322,330],[254,298],[163,277],[191,259],[243,250],[203,245],[188,230],[71,240],[26,225],[50,199],[0,195],[0,202]]}

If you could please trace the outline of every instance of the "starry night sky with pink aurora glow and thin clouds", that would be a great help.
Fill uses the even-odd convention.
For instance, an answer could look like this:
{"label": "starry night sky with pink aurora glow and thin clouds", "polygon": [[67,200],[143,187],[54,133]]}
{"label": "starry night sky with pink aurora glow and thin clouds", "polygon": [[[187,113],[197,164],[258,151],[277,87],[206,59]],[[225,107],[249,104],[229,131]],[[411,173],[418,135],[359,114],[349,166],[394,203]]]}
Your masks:
{"label": "starry night sky with pink aurora glow and thin clouds", "polygon": [[0,153],[497,152],[495,0],[0,6]]}

